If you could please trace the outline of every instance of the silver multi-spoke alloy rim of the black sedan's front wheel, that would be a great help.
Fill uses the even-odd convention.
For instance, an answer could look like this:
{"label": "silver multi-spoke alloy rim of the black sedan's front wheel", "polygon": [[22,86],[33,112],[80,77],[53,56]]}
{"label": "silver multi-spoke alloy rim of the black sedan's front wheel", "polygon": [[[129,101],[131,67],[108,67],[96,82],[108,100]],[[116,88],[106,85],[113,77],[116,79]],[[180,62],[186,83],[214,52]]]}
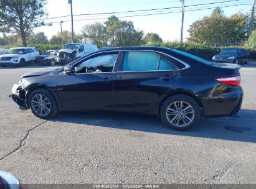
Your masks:
{"label": "silver multi-spoke alloy rim of the black sedan's front wheel", "polygon": [[39,116],[47,116],[50,113],[50,101],[44,94],[35,94],[31,99],[31,107]]}

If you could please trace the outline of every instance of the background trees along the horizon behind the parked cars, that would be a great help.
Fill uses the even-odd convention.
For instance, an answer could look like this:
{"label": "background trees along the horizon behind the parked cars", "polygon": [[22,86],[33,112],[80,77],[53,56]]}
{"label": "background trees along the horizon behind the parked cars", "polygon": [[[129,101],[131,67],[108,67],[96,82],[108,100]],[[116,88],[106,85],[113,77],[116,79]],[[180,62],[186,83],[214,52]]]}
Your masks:
{"label": "background trees along the horizon behind the parked cars", "polygon": [[[34,29],[42,25],[47,17],[46,0],[0,0],[0,44],[61,44],[61,34],[47,39],[44,32],[34,34]],[[255,21],[255,19],[254,19]],[[245,42],[248,32],[249,15],[237,12],[226,16],[220,7],[214,9],[210,16],[193,22],[189,27],[190,37],[187,42],[199,44]],[[253,29],[256,29],[254,22]],[[252,32],[254,34],[254,32]],[[64,44],[71,42],[71,32],[64,30]],[[253,40],[254,38],[250,38]],[[105,46],[130,46],[163,42],[155,33],[145,35],[143,30],[135,29],[131,21],[121,21],[111,16],[104,23],[95,22],[85,25],[75,34],[75,42],[86,42]]]}

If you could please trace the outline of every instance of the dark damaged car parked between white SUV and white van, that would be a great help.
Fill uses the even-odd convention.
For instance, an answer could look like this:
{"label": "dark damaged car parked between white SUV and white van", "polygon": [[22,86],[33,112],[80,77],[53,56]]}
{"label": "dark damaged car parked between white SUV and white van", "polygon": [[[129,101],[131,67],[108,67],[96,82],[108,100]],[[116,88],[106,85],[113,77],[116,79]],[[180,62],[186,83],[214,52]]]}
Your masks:
{"label": "dark damaged car parked between white SUV and white van", "polygon": [[39,65],[55,65],[57,63],[57,50],[47,50],[36,57],[36,63]]}

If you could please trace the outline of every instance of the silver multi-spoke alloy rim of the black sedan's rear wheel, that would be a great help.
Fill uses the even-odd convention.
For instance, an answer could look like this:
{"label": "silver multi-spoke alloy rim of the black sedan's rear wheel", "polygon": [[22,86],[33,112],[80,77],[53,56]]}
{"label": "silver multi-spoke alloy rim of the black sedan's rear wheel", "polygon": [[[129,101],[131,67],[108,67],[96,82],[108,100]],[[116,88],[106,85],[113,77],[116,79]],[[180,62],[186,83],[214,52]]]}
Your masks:
{"label": "silver multi-spoke alloy rim of the black sedan's rear wheel", "polygon": [[166,118],[177,127],[186,127],[194,120],[194,108],[184,101],[174,101],[166,109]]}

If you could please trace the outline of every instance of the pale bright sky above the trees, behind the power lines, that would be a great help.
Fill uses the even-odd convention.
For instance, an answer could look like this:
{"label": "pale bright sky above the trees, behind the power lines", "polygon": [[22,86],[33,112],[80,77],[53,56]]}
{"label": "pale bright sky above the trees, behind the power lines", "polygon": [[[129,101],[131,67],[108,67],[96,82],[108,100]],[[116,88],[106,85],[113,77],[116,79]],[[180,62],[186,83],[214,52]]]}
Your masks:
{"label": "pale bright sky above the trees, behind the power lines", "polygon": [[[181,36],[182,3],[180,0],[72,0],[72,2],[73,15],[112,12],[111,14],[73,16],[73,29],[75,33],[79,33],[82,27],[86,24],[92,24],[96,21],[103,23],[107,21],[109,16],[115,15],[122,21],[132,21],[135,25],[135,29],[144,30],[145,34],[148,32],[158,34],[164,41],[177,41]],[[227,16],[235,14],[239,11],[247,14],[250,12],[252,7],[252,0],[184,0],[184,2],[184,39],[189,37],[189,32],[187,32],[189,25],[198,19],[202,19],[204,16],[211,15],[212,10],[217,6],[222,7],[224,14]],[[169,7],[175,8],[162,9]],[[68,17],[47,19],[45,22],[52,22],[52,26],[39,27],[35,30],[35,33],[45,32],[47,37],[50,39],[52,35],[57,34],[57,32],[60,31],[60,21],[64,21],[62,24],[63,30],[71,31],[71,17],[69,16],[70,4],[68,4],[68,0],[48,0],[45,9],[48,13],[48,18],[60,16]],[[113,13],[145,9],[161,10]],[[194,11],[195,9],[197,10]],[[136,16],[141,14],[155,15]]]}

